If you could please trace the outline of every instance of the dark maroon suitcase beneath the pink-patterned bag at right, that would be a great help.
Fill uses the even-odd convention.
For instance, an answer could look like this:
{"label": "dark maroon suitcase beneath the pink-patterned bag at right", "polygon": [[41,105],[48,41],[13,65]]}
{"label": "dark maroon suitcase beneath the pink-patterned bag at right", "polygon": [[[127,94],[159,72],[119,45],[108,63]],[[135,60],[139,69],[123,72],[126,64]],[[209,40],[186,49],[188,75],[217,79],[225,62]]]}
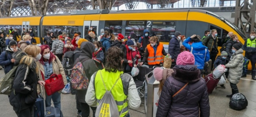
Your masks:
{"label": "dark maroon suitcase beneath the pink-patterned bag at right", "polygon": [[213,73],[210,73],[204,78],[204,80],[206,82],[207,92],[208,94],[211,94],[213,92],[213,89],[217,86],[220,79],[213,78]]}

